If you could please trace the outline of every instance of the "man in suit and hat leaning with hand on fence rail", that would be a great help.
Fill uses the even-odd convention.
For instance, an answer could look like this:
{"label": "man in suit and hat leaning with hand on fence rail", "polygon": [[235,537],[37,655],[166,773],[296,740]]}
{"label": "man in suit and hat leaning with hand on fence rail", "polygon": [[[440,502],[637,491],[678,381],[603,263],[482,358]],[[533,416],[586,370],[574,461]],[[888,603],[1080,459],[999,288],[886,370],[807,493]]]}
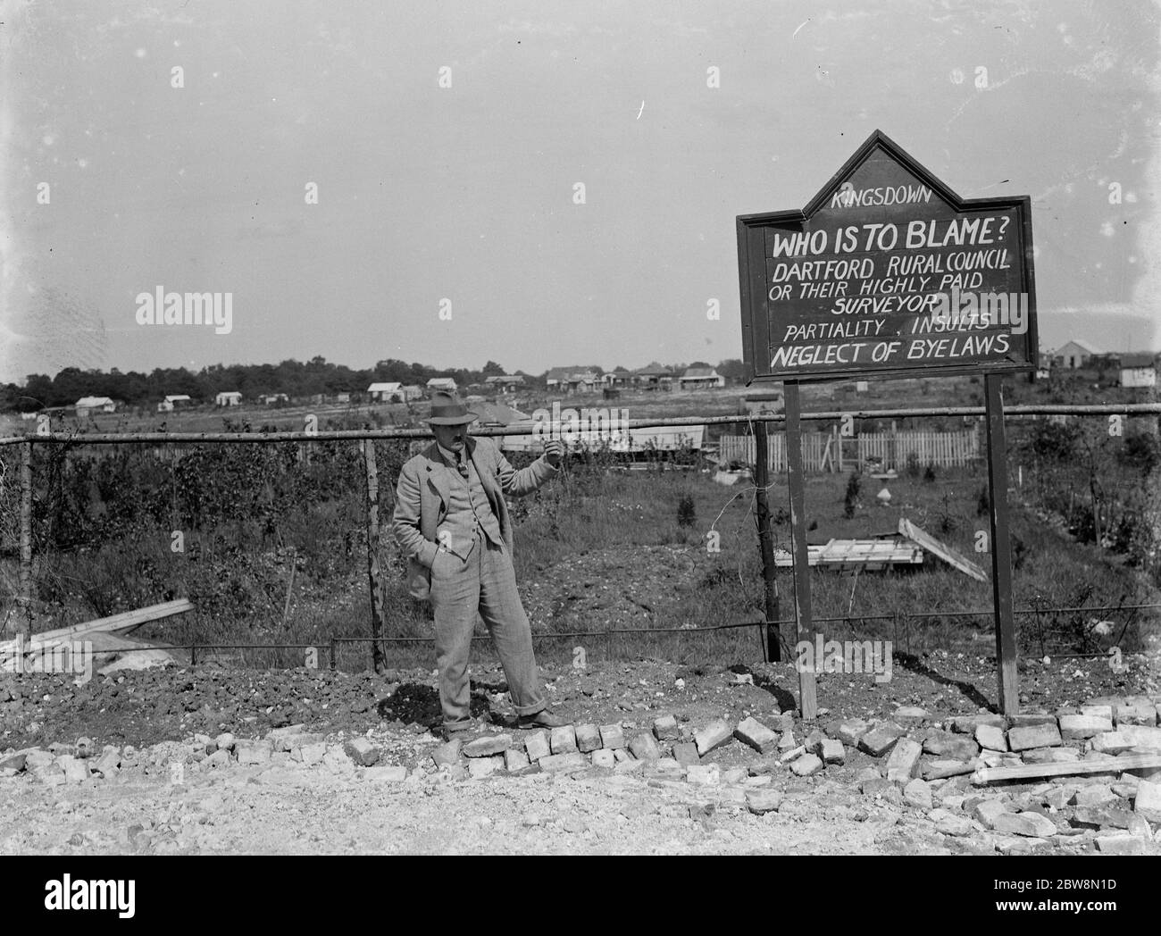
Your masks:
{"label": "man in suit and hat leaning with hand on fence rail", "polygon": [[435,617],[439,697],[447,736],[473,727],[468,651],[476,614],[496,645],[521,728],[568,723],[548,711],[532,651],[532,628],[515,586],[512,523],[504,495],[536,490],[560,471],[564,446],[517,471],[490,439],[473,439],[476,417],[450,394],[432,396],[435,441],[399,473],[392,531],[408,556],[412,597]]}

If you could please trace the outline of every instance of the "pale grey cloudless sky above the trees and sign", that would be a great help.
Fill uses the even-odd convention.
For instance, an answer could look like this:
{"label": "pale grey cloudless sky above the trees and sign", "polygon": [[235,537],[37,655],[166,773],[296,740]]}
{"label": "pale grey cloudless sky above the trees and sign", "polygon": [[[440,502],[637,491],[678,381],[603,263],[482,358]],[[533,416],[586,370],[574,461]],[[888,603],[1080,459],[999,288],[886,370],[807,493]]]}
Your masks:
{"label": "pale grey cloudless sky above the trees and sign", "polygon": [[[0,380],[740,358],[735,217],[875,129],[960,197],[1031,196],[1041,350],[1161,350],[1159,31],[1077,0],[0,0]],[[229,330],[143,324],[159,288]]]}

